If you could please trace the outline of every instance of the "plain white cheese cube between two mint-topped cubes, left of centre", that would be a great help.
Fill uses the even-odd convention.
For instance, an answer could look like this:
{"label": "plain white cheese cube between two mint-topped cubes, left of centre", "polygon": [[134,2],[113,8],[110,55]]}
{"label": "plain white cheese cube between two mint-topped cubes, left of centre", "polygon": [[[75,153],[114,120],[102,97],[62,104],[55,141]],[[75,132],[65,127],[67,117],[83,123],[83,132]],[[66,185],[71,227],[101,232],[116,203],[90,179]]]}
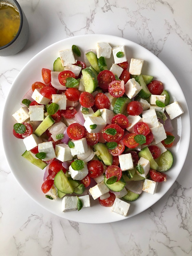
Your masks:
{"label": "plain white cheese cube between two mint-topped cubes, left of centre", "polygon": [[65,143],[58,144],[55,146],[55,155],[58,160],[65,162],[72,160],[71,149]]}

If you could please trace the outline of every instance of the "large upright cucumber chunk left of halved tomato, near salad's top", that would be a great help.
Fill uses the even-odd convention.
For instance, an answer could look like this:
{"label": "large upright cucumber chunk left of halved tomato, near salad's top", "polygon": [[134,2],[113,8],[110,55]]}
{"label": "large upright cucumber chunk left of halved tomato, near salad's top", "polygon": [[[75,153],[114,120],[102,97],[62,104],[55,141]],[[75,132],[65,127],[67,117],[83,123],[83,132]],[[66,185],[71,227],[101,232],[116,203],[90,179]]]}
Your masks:
{"label": "large upright cucumber chunk left of halved tomato, near salad's top", "polygon": [[90,68],[83,69],[82,74],[85,91],[88,93],[94,92],[98,85],[97,76]]}

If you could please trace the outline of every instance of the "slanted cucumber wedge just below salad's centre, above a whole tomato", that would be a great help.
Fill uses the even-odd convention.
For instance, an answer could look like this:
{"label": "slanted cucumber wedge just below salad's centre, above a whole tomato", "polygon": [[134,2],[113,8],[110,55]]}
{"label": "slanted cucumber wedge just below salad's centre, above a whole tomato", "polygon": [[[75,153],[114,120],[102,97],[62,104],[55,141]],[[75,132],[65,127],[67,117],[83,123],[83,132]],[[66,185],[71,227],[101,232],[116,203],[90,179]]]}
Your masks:
{"label": "slanted cucumber wedge just below salad's centre, above a whole tomato", "polygon": [[113,156],[109,153],[107,146],[103,143],[97,143],[93,146],[95,151],[99,152],[99,156],[97,156],[100,160],[103,161],[105,165],[112,165]]}

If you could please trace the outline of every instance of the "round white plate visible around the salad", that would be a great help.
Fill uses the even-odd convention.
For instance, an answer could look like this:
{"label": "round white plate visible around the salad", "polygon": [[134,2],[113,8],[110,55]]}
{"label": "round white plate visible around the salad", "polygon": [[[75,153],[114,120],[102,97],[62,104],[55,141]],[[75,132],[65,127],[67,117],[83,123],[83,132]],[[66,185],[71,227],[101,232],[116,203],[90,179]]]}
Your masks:
{"label": "round white plate visible around the salad", "polygon": [[[16,139],[12,135],[13,125],[15,123],[12,114],[20,108],[21,99],[27,90],[31,88],[32,83],[42,80],[41,69],[53,69],[53,62],[59,57],[59,51],[69,49],[75,44],[82,53],[81,58],[78,59],[84,61],[84,51],[95,48],[97,42],[108,42],[112,47],[125,45],[129,63],[131,58],[143,59],[142,74],[152,75],[154,79],[162,81],[164,88],[170,92],[171,96],[177,99],[184,111],[183,115],[173,120],[175,143],[171,151],[174,155],[174,164],[166,172],[167,181],[158,184],[156,194],[151,195],[143,192],[138,200],[131,202],[126,218],[130,218],[146,210],[170,189],[183,167],[190,139],[188,107],[178,82],[165,64],[142,46],[112,35],[80,35],[54,43],[34,56],[14,80],[4,107],[2,133],[4,135],[3,144],[6,158],[17,182],[19,182],[20,186],[35,202],[62,218],[82,223],[110,223],[123,220],[125,217],[113,213],[108,207],[102,207],[99,205],[98,200],[94,201],[93,199],[89,208],[82,208],[79,212],[76,210],[62,213],[62,199],[49,200],[45,198],[45,195],[41,191],[44,171],[32,165],[21,156],[25,151],[25,145],[22,140]],[[110,67],[113,62],[113,54],[111,59],[107,61],[108,67]],[[173,102],[173,97],[171,97],[170,102]]]}

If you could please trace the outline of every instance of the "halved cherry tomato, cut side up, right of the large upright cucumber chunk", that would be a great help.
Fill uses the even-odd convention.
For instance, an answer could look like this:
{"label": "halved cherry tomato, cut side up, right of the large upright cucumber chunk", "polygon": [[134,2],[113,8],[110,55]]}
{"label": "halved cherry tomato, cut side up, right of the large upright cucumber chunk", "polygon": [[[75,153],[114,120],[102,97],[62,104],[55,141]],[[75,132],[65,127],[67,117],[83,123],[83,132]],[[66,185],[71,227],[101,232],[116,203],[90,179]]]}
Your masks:
{"label": "halved cherry tomato, cut side up, right of the large upright cucumber chunk", "polygon": [[108,91],[109,84],[115,80],[113,72],[109,70],[101,71],[98,76],[98,86],[106,93]]}

